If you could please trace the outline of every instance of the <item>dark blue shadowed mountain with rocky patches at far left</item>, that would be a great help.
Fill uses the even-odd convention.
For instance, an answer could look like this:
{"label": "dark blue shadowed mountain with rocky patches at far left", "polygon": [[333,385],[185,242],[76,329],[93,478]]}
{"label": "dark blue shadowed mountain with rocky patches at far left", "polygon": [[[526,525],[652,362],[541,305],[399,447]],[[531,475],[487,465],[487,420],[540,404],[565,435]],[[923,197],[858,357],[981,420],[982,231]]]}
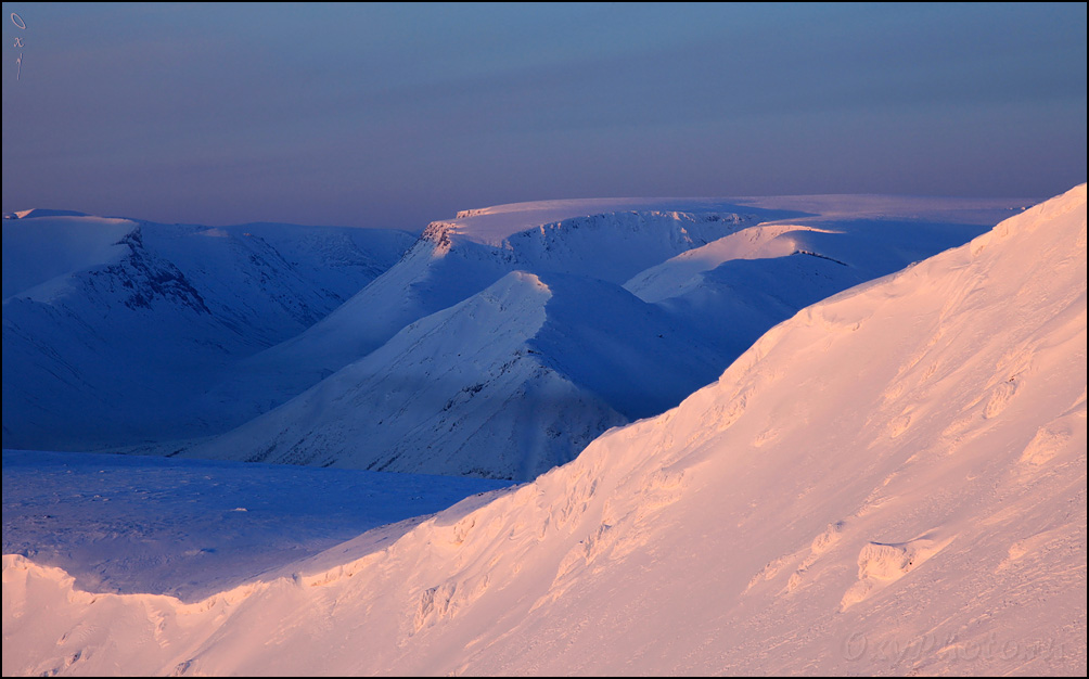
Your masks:
{"label": "dark blue shadowed mountain with rocky patches at far left", "polygon": [[93,449],[241,423],[193,399],[412,244],[387,230],[3,220],[3,444]]}

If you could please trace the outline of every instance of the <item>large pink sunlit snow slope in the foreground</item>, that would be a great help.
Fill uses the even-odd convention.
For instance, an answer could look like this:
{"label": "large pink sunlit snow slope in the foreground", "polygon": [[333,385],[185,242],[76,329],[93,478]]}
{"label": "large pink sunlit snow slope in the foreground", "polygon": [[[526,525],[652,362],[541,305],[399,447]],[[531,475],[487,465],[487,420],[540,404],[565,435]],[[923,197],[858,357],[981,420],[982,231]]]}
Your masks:
{"label": "large pink sunlit snow slope in the foreground", "polygon": [[189,605],[3,568],[4,674],[1084,676],[1086,186],[389,547]]}

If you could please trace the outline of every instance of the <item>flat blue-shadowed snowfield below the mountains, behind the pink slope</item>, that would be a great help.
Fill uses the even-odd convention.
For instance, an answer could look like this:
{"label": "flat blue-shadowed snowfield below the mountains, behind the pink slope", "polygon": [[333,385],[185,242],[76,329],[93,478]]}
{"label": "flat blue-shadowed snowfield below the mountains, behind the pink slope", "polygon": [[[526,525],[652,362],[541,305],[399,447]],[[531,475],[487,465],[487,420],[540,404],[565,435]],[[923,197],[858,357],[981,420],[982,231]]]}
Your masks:
{"label": "flat blue-shadowed snowfield below the mountains, behind the pink slope", "polygon": [[[482,479],[3,452],[3,553],[96,592],[198,600],[389,523],[500,487]],[[406,521],[420,517],[415,521]]]}

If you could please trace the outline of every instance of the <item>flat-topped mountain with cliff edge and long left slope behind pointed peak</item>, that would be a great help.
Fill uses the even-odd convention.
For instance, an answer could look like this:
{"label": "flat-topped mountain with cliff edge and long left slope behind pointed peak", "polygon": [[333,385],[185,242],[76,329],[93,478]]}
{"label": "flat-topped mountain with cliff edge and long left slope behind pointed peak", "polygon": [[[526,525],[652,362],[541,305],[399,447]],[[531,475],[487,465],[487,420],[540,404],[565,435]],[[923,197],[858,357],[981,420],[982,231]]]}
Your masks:
{"label": "flat-topped mountain with cliff edge and long left slope behind pointed peak", "polygon": [[[668,209],[678,205],[689,211]],[[788,214],[795,213],[675,199],[543,201],[462,212],[458,219],[430,224],[395,267],[321,322],[240,363],[208,396],[209,408],[237,408],[240,417],[254,417],[268,409],[267,399],[287,400],[374,351],[407,324],[512,271],[622,284],[743,225]]]}

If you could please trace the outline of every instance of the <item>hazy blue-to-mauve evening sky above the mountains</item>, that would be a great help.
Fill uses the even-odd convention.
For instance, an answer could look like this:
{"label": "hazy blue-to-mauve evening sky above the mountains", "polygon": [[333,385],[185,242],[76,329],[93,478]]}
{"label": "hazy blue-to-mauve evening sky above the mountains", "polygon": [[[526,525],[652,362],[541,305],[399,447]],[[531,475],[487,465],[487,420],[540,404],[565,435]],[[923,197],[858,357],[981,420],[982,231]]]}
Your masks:
{"label": "hazy blue-to-mauve evening sky above the mountains", "polygon": [[3,18],[4,211],[417,231],[548,198],[1086,181],[1085,3],[5,2]]}

